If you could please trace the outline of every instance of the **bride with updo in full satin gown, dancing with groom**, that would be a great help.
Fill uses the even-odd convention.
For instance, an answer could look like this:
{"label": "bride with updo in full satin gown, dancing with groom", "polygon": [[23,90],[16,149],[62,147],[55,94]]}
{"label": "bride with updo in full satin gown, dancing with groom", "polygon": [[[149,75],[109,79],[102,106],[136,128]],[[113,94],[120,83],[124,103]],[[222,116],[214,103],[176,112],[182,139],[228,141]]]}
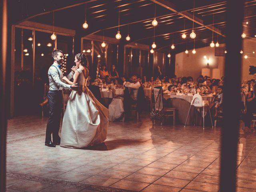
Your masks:
{"label": "bride with updo in full satin gown, dancing with groom", "polygon": [[85,54],[75,56],[78,69],[74,82],[63,78],[68,84],[82,86],[82,91],[72,91],[63,117],[60,146],[84,148],[104,142],[108,129],[108,109],[105,108],[87,88],[89,70]]}

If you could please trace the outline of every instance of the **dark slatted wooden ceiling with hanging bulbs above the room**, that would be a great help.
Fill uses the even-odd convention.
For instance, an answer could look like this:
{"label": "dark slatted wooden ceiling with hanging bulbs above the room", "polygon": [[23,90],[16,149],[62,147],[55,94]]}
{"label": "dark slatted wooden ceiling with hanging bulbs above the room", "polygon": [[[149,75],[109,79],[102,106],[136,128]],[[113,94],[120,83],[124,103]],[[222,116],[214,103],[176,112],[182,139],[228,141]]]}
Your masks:
{"label": "dark slatted wooden ceiling with hanging bulbs above the room", "polygon": [[[118,11],[120,10],[121,42],[136,42],[149,46],[153,42],[154,27],[151,22],[156,18],[156,50],[169,52],[174,42],[175,53],[194,47],[194,40],[189,37],[193,28],[196,32],[195,48],[208,46],[218,39],[225,42],[226,1],[223,0],[11,0],[15,15],[13,23],[31,20],[43,24],[76,30],[79,36],[89,34],[115,37],[118,30]],[[234,1],[235,3],[235,1]],[[88,29],[83,29],[85,20]],[[244,31],[246,38],[256,34],[256,0],[246,0],[244,7]],[[214,16],[214,26],[213,23]],[[246,24],[248,22],[248,24]],[[213,31],[213,32],[212,32]],[[185,32],[186,39],[181,38]],[[125,40],[130,34],[130,42]]]}

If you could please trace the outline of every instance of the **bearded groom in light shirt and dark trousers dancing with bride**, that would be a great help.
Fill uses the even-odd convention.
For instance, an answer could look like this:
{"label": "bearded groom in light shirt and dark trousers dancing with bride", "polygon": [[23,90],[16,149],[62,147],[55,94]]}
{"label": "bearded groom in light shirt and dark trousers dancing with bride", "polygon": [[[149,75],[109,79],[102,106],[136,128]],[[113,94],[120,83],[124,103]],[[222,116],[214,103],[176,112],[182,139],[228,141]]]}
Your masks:
{"label": "bearded groom in light shirt and dark trousers dancing with bride", "polygon": [[[53,50],[52,57],[54,58],[54,63],[50,66],[48,70],[49,78],[49,92],[48,92],[48,103],[50,108],[49,119],[46,126],[46,137],[45,145],[48,147],[56,147],[60,144],[60,119],[61,119],[61,108],[62,108],[62,88],[65,89],[78,89],[76,84],[68,85],[62,80],[63,74],[60,70],[60,64],[63,62],[63,52],[62,50]],[[76,67],[72,67],[72,71],[66,77],[71,79],[74,75]],[[53,142],[52,142],[53,141]]]}

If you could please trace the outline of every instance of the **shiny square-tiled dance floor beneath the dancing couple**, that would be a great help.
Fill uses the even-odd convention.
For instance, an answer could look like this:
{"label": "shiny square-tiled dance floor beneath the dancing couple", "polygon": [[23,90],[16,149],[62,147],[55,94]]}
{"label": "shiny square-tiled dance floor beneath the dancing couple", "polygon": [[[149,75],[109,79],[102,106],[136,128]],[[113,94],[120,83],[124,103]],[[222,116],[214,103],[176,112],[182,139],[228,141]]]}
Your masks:
{"label": "shiny square-tiled dance floor beneath the dancing couple", "polygon": [[[47,118],[8,121],[7,192],[218,192],[220,128],[110,122],[104,144],[44,146]],[[238,192],[256,192],[256,132],[240,130]]]}

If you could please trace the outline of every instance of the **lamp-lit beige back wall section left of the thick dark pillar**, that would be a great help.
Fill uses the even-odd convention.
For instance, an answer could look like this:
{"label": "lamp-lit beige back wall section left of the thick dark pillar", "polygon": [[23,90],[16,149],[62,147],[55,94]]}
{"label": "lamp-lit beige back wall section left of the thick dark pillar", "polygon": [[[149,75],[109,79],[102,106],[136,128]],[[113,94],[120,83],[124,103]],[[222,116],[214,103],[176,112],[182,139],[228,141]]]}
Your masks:
{"label": "lamp-lit beige back wall section left of the thick dark pillar", "polygon": [[[220,45],[224,46],[224,45]],[[175,74],[177,77],[192,76],[196,79],[202,74],[202,68],[207,67],[207,59],[209,59],[209,68],[219,68],[220,75],[224,74],[224,56],[214,56],[215,48],[210,46],[196,49],[196,54],[192,54],[192,50],[188,50],[188,54],[181,52],[176,54]]]}

